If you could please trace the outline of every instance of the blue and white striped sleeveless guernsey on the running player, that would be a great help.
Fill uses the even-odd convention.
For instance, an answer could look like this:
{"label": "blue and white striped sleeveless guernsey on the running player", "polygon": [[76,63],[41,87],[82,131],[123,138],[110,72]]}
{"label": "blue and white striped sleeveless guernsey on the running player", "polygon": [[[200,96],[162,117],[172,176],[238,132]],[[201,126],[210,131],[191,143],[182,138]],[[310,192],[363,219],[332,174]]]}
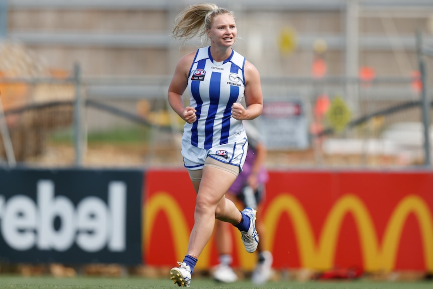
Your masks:
{"label": "blue and white striped sleeveless guernsey on the running player", "polygon": [[243,130],[242,121],[231,116],[232,105],[244,98],[244,65],[245,57],[234,50],[223,63],[212,59],[210,46],[197,50],[188,78],[189,106],[197,111],[197,121],[186,123],[183,135],[191,145],[210,149]]}

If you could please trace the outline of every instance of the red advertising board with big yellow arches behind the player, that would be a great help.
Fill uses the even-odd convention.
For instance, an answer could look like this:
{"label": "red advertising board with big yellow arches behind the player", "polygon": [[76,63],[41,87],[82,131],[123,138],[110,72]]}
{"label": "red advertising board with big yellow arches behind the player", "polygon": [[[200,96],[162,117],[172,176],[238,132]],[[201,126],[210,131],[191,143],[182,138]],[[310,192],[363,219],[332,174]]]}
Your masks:
{"label": "red advertising board with big yellow arches behind the player", "polygon": [[[263,218],[275,268],[355,267],[433,272],[430,171],[270,171]],[[175,265],[186,252],[195,194],[186,170],[146,173],[143,260]],[[233,230],[234,266],[255,254]],[[218,262],[213,239],[197,267]]]}

